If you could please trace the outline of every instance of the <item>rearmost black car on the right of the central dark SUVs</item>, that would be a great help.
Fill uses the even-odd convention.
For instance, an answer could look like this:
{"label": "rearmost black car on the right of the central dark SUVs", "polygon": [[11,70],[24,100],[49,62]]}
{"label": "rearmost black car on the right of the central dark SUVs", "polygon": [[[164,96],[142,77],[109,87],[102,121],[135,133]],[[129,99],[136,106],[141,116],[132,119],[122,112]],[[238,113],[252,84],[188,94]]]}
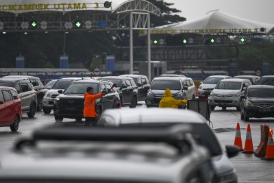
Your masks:
{"label": "rearmost black car on the right of the central dark SUVs", "polygon": [[131,77],[138,86],[138,101],[147,102],[147,91],[150,89],[149,79],[145,75],[120,75],[125,77]]}

